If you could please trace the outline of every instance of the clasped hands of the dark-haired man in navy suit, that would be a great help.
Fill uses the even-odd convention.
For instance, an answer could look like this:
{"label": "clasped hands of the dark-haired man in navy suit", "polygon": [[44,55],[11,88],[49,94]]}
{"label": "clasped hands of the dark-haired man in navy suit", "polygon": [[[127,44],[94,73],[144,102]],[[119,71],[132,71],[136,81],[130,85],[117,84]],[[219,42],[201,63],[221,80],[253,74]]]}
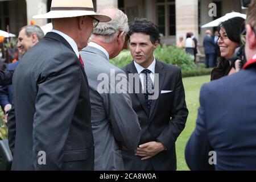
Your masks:
{"label": "clasped hands of the dark-haired man in navy suit", "polygon": [[146,160],[165,150],[165,148],[161,142],[148,142],[139,145],[135,155],[142,157],[141,160]]}

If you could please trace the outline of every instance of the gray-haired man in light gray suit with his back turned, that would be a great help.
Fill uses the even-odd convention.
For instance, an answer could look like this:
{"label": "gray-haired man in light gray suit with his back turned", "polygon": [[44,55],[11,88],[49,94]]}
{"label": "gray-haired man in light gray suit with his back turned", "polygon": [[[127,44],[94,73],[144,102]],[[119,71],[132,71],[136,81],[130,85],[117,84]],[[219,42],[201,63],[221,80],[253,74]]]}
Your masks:
{"label": "gray-haired man in light gray suit with his back turned", "polygon": [[[127,77],[121,69],[110,64],[109,59],[122,50],[129,30],[128,19],[118,9],[105,9],[100,13],[110,16],[112,21],[99,23],[94,28],[91,42],[80,52],[90,87],[94,169],[123,170],[121,147],[126,146],[135,154],[141,128],[137,114],[132,109],[128,87],[110,93],[111,87],[118,89],[117,82],[112,82],[110,77],[117,76],[117,80],[126,81]],[[104,75],[108,77],[103,80],[108,80],[107,88],[101,90],[99,85],[102,80],[98,78]]]}

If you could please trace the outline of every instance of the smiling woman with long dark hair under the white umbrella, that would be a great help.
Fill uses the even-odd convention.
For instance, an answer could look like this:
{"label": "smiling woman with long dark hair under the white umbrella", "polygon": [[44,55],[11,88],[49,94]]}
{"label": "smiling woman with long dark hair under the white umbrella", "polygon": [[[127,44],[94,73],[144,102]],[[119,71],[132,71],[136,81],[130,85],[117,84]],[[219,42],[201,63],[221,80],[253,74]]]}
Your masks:
{"label": "smiling woman with long dark hair under the white umbrella", "polygon": [[245,19],[234,17],[218,25],[218,46],[220,47],[220,58],[217,67],[213,68],[210,80],[217,80],[229,74],[233,68],[232,57],[235,49],[240,47],[240,33],[245,28]]}

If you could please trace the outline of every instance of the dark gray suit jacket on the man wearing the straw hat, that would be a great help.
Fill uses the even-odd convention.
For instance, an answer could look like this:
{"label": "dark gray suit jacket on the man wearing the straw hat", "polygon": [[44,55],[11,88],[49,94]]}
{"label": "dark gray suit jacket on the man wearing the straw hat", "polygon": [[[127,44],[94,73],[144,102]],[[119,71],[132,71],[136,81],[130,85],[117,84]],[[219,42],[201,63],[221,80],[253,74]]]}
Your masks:
{"label": "dark gray suit jacket on the man wearing the straw hat", "polygon": [[[15,138],[12,169],[92,170],[88,81],[69,43],[49,32],[20,60],[13,88],[8,122],[11,147]],[[46,165],[38,163],[40,151],[46,153]]]}

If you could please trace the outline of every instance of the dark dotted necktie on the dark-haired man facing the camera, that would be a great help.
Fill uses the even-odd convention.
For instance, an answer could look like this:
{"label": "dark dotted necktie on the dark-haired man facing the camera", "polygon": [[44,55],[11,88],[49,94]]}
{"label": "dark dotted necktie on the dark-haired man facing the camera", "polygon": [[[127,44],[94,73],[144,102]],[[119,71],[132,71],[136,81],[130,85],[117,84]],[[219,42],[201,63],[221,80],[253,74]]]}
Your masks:
{"label": "dark dotted necktie on the dark-haired man facing the camera", "polygon": [[152,93],[153,82],[150,77],[151,71],[149,69],[144,69],[141,73],[144,73],[143,85],[144,85],[144,90],[146,90],[146,93],[144,93],[144,96],[146,98],[147,108],[150,110],[152,100],[148,100],[148,96],[153,94]]}

